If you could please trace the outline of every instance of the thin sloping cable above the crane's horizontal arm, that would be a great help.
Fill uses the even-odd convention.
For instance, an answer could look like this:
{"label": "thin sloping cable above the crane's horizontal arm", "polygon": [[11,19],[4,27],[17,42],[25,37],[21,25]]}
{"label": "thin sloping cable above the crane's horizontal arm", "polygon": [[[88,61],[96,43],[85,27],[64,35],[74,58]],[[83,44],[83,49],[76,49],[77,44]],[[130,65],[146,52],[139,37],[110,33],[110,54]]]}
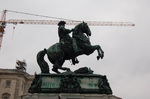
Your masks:
{"label": "thin sloping cable above the crane's horizontal arm", "polygon": [[74,22],[80,22],[77,20],[71,20],[71,19],[65,19],[65,18],[58,18],[58,17],[52,17],[52,16],[45,16],[45,15],[39,15],[39,14],[31,14],[26,12],[19,12],[19,11],[13,11],[13,10],[6,10],[7,12],[13,12],[13,13],[19,13],[19,14],[25,14],[25,15],[31,15],[31,16],[38,16],[38,17],[45,17],[45,18],[52,18],[52,19],[59,19],[59,20],[67,20],[67,21],[74,21]]}

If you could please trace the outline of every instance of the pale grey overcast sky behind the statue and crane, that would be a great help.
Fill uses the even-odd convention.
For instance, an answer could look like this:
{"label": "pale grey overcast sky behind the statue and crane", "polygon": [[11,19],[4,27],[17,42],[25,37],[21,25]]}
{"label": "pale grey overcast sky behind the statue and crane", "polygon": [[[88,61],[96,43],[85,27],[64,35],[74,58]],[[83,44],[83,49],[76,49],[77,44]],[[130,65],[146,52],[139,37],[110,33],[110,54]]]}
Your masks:
{"label": "pale grey overcast sky behind the statue and crane", "polygon": [[[101,45],[104,59],[97,61],[94,52],[90,56],[79,56],[78,65],[66,61],[64,66],[71,70],[87,66],[96,74],[107,75],[113,94],[123,99],[150,99],[149,4],[149,0],[0,0],[0,11],[8,9],[81,21],[135,23],[135,27],[90,26],[91,42]],[[20,18],[46,19],[7,13],[7,19]],[[7,24],[0,50],[0,68],[14,69],[17,59],[25,59],[28,73],[40,73],[36,54],[56,42],[57,25]],[[51,69],[52,64],[49,65]]]}

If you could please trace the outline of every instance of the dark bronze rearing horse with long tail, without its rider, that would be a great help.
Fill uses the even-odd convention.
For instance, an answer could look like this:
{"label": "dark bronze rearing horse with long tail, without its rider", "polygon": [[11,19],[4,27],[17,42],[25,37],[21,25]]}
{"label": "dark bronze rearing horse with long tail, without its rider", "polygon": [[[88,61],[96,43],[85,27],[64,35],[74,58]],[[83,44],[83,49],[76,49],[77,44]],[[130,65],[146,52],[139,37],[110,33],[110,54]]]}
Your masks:
{"label": "dark bronze rearing horse with long tail, without its rider", "polygon": [[49,66],[47,62],[44,60],[45,54],[49,61],[53,64],[52,71],[56,73],[60,73],[58,69],[67,70],[69,68],[62,67],[65,60],[73,59],[79,55],[90,55],[95,50],[98,52],[97,60],[99,58],[104,57],[104,52],[99,45],[91,45],[89,40],[89,36],[91,36],[90,28],[88,27],[87,23],[82,22],[75,26],[72,38],[77,45],[78,51],[74,51],[73,44],[71,46],[63,45],[61,43],[56,43],[49,47],[48,49],[44,49],[37,54],[37,62],[41,68],[42,73],[49,73]]}

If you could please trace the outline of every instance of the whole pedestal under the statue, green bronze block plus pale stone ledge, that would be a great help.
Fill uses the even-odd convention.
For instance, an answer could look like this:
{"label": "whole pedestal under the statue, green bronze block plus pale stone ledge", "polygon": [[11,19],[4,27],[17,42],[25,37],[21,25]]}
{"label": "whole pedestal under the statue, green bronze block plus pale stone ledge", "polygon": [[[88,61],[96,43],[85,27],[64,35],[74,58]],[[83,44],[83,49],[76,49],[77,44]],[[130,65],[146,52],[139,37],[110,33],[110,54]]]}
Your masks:
{"label": "whole pedestal under the statue, green bronze block plus pale stone ledge", "polygon": [[38,74],[22,99],[121,99],[112,95],[107,77],[98,74]]}

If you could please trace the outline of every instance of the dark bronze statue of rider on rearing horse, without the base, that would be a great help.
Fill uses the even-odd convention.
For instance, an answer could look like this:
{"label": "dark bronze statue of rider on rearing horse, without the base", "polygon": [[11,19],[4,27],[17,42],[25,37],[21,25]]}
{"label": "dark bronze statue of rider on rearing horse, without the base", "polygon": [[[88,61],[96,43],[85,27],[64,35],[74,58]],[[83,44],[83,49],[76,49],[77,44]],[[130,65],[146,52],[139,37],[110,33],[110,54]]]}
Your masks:
{"label": "dark bronze statue of rider on rearing horse, without the base", "polygon": [[[59,42],[44,49],[37,54],[37,62],[42,73],[49,73],[49,66],[44,60],[47,54],[49,61],[53,64],[52,71],[60,73],[58,69],[70,71],[69,68],[62,67],[65,60],[72,60],[72,64],[79,63],[76,58],[79,55],[90,55],[95,50],[98,52],[97,60],[103,59],[104,52],[100,45],[91,45],[89,36],[91,36],[90,28],[87,23],[82,22],[75,26],[74,29],[66,29],[65,21],[58,23]],[[69,35],[71,32],[72,37]]]}

